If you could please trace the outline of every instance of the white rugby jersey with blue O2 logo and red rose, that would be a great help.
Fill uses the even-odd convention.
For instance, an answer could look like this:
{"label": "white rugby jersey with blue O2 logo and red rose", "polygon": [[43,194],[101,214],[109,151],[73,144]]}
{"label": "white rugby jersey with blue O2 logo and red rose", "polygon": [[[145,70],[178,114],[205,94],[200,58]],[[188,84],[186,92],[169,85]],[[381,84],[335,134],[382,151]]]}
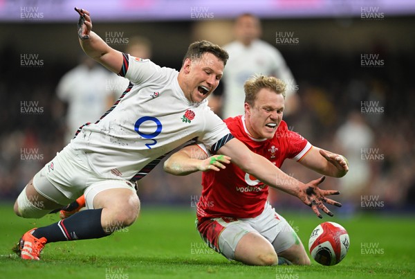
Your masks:
{"label": "white rugby jersey with blue O2 logo and red rose", "polygon": [[120,75],[130,80],[129,89],[100,120],[84,125],[70,143],[86,152],[95,172],[140,179],[160,156],[187,141],[198,138],[218,150],[232,138],[207,100],[192,103],[185,98],[178,71],[131,55],[123,57]]}

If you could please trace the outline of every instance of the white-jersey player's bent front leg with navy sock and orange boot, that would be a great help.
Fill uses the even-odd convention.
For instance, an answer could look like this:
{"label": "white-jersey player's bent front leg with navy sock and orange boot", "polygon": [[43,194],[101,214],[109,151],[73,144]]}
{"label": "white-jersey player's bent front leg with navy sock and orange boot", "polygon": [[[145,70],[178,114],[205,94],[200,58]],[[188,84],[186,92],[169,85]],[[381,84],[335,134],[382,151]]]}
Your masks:
{"label": "white-jersey player's bent front leg with navy sock and orange boot", "polygon": [[[39,183],[49,182],[47,179],[43,179]],[[37,197],[39,193],[33,188],[33,185],[30,185],[27,191],[28,199],[30,199],[30,195],[36,195],[38,201],[45,201],[44,208],[48,208],[48,210],[42,211],[42,216],[48,213],[50,208],[62,206]],[[33,217],[33,211],[37,208],[34,210],[33,206],[28,206],[28,204],[28,202],[24,202],[26,209],[22,210],[22,204],[18,202],[15,206],[17,213],[23,217]],[[40,253],[46,243],[88,240],[111,235],[117,229],[133,224],[140,208],[136,192],[131,188],[110,188],[98,192],[93,204],[94,209],[82,210],[49,226],[30,229],[21,237],[15,251],[22,259],[39,260]]]}

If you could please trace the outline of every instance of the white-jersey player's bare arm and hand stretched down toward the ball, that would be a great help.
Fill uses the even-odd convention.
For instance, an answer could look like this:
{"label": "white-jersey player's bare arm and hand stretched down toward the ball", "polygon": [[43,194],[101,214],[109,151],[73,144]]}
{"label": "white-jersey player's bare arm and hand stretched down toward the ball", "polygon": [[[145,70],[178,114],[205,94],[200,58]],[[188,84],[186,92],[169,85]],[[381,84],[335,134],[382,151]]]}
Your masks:
{"label": "white-jersey player's bare arm and hand stretched down toward the ball", "polygon": [[237,138],[232,138],[232,140],[228,141],[228,143],[218,150],[218,153],[232,157],[232,163],[238,165],[244,172],[257,177],[257,179],[266,183],[268,186],[298,197],[304,204],[311,206],[315,214],[320,218],[322,218],[322,215],[319,213],[319,208],[324,213],[333,216],[333,213],[324,206],[324,203],[341,206],[337,201],[326,198],[327,195],[338,195],[338,191],[321,190],[318,187],[324,181],[324,177],[304,184],[284,173],[263,156],[251,152]]}

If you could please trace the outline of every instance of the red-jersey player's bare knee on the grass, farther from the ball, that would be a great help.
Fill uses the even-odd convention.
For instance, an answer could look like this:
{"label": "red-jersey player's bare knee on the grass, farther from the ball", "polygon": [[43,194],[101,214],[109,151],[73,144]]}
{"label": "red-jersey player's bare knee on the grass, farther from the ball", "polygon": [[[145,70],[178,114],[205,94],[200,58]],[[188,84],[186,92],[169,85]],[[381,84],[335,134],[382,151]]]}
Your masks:
{"label": "red-jersey player's bare knee on the grass, farther from the ball", "polygon": [[235,249],[234,259],[250,265],[277,265],[278,258],[274,247],[259,233],[243,235]]}

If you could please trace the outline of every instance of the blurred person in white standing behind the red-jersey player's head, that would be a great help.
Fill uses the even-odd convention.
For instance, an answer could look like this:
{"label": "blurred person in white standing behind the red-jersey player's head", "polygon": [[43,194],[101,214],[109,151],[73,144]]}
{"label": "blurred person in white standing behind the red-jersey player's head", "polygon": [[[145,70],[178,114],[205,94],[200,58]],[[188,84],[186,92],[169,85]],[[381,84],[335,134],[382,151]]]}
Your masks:
{"label": "blurred person in white standing behind the red-jersey player's head", "polygon": [[[223,93],[216,89],[210,97],[210,107],[222,118],[244,113],[243,82],[255,73],[273,75],[287,84],[286,110],[284,114],[297,110],[296,83],[281,53],[261,37],[261,22],[255,15],[243,14],[234,23],[234,42],[223,46],[229,60],[223,71]],[[221,95],[221,96],[220,96]]]}

